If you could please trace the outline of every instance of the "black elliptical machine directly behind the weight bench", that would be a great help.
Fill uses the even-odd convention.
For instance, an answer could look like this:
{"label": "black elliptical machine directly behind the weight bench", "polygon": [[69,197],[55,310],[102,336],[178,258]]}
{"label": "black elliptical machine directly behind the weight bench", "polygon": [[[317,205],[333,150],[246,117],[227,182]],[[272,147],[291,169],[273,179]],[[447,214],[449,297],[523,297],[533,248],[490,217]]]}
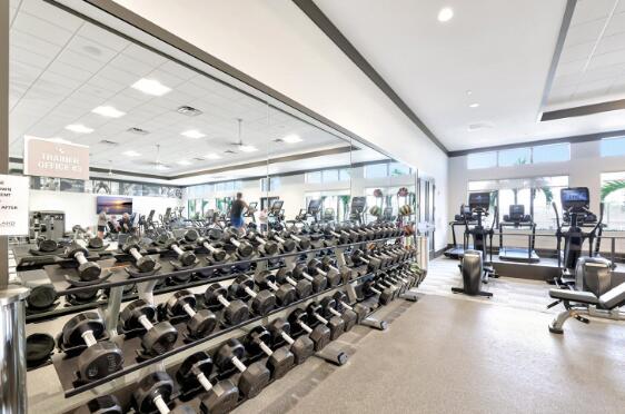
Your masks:
{"label": "black elliptical machine directly behind the weight bench", "polygon": [[[612,262],[599,256],[601,236],[603,231],[603,204],[599,218],[588,208],[591,194],[587,187],[563,188],[560,190],[563,220],[560,224],[556,204],[557,259],[560,273],[553,284],[558,287],[593,292],[601,295],[605,290],[603,280],[611,276]],[[568,225],[568,228],[563,229]],[[584,228],[591,228],[584,231]],[[564,250],[562,240],[564,239]],[[588,256],[582,256],[584,241],[588,240]]]}

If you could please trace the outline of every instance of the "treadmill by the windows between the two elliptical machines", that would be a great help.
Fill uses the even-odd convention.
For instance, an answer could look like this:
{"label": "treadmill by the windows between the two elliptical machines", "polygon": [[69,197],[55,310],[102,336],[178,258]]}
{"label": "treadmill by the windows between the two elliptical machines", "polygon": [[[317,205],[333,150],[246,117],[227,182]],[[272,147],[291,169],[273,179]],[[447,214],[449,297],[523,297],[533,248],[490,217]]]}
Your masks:
{"label": "treadmill by the windows between the two elliptical machines", "polygon": [[[529,229],[532,237],[528,237],[527,247],[506,247],[504,246],[504,229],[506,227],[515,229]],[[534,252],[536,243],[536,224],[530,215],[525,214],[525,206],[513,204],[508,214],[504,215],[504,220],[499,223],[499,259],[505,262],[538,263],[540,257]]]}

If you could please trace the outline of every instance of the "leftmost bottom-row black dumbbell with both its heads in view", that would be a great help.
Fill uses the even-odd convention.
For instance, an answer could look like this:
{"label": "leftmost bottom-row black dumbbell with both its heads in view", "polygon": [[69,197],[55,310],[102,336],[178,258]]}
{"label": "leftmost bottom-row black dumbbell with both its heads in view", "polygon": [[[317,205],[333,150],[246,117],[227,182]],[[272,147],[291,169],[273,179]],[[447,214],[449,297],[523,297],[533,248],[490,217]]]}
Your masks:
{"label": "leftmost bottom-row black dumbbell with both its heads in view", "polygon": [[176,379],[183,390],[198,385],[207,393],[201,398],[205,413],[229,413],[239,401],[239,388],[230,379],[212,384],[208,377],[212,372],[212,358],[204,351],[189,355],[176,372]]}

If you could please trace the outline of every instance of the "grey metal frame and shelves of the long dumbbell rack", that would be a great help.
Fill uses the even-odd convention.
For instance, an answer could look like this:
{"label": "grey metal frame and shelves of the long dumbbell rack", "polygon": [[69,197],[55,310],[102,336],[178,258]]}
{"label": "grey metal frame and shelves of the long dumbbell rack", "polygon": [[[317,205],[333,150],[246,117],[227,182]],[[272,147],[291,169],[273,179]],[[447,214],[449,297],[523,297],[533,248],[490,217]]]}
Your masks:
{"label": "grey metal frame and shelves of the long dumbbell rack", "polygon": [[[349,302],[353,303],[356,299],[356,293],[355,293],[353,286],[355,284],[359,283],[359,282],[363,282],[364,279],[367,279],[367,278],[370,278],[370,277],[375,276],[376,273],[361,274],[360,276],[349,280],[347,284],[340,284],[339,286],[328,288],[324,292],[319,292],[317,294],[308,296],[305,299],[297,300],[297,302],[290,304],[287,308],[275,309],[269,315],[267,315],[265,317],[252,316],[251,318],[247,319],[245,323],[242,323],[240,325],[220,328],[220,329],[214,332],[210,336],[201,338],[201,339],[197,339],[197,341],[192,341],[192,342],[185,342],[182,339],[182,335],[180,335],[179,338],[178,338],[178,343],[176,344],[176,346],[173,347],[172,351],[170,351],[166,354],[146,359],[146,361],[137,361],[136,349],[141,348],[140,339],[135,337],[135,338],[128,338],[128,339],[123,341],[123,335],[119,335],[117,333],[117,323],[118,323],[117,315],[119,314],[119,309],[121,307],[122,300],[135,298],[135,297],[140,297],[140,298],[146,299],[149,303],[153,303],[153,294],[161,294],[161,293],[166,293],[166,292],[178,290],[178,289],[181,289],[181,288],[188,288],[188,287],[191,287],[191,286],[201,286],[201,285],[207,285],[207,284],[219,282],[219,280],[232,279],[240,273],[238,273],[238,274],[235,273],[235,274],[229,274],[229,275],[220,275],[218,277],[209,277],[209,278],[206,278],[206,279],[194,280],[189,284],[183,284],[183,285],[167,286],[165,289],[157,293],[157,292],[153,290],[153,287],[159,279],[165,279],[167,277],[179,275],[180,273],[191,274],[191,273],[197,273],[197,272],[201,272],[201,270],[210,272],[212,269],[218,269],[218,268],[226,267],[226,266],[230,267],[230,266],[237,266],[237,265],[249,265],[249,264],[252,264],[252,263],[256,264],[256,272],[260,272],[260,270],[264,270],[264,269],[269,267],[268,266],[269,260],[276,260],[276,259],[282,259],[285,265],[287,266],[287,268],[291,269],[295,266],[297,259],[300,256],[306,255],[307,259],[309,259],[309,258],[315,257],[319,252],[328,252],[328,250],[334,252],[335,257],[338,262],[337,263],[338,267],[341,267],[343,265],[345,265],[344,252],[346,249],[355,247],[355,246],[357,247],[357,246],[370,245],[370,244],[380,245],[380,244],[385,244],[388,240],[396,240],[397,238],[398,237],[389,237],[389,238],[381,238],[381,239],[369,240],[369,241],[350,243],[350,244],[345,244],[345,245],[340,245],[340,246],[314,248],[314,249],[309,249],[309,250],[306,250],[306,252],[294,252],[294,253],[289,253],[289,254],[276,255],[276,256],[271,256],[269,258],[268,257],[255,257],[255,258],[250,258],[248,260],[231,262],[231,263],[225,263],[225,264],[218,264],[218,265],[211,265],[211,266],[205,266],[205,267],[196,267],[196,268],[187,269],[187,270],[173,270],[173,269],[170,270],[170,269],[167,269],[163,266],[163,268],[161,269],[161,273],[158,274],[158,275],[142,276],[142,277],[136,277],[136,278],[128,278],[126,274],[113,275],[106,283],[102,283],[102,284],[99,284],[99,285],[90,285],[90,286],[86,286],[86,287],[71,287],[71,285],[65,280],[65,276],[62,275],[62,274],[67,273],[68,269],[57,269],[58,273],[56,273],[56,272],[53,273],[53,275],[54,275],[53,283],[54,283],[54,286],[58,289],[59,296],[71,295],[73,293],[86,290],[86,289],[95,289],[95,288],[110,289],[107,300],[99,300],[97,303],[90,303],[90,304],[88,304],[88,306],[91,307],[91,308],[96,307],[96,306],[99,306],[101,308],[101,312],[106,317],[107,328],[109,331],[109,335],[123,349],[123,354],[125,354],[126,361],[127,361],[127,363],[125,364],[125,366],[121,371],[116,372],[112,375],[109,375],[107,378],[99,379],[99,381],[96,381],[96,382],[91,382],[91,383],[88,383],[88,384],[76,384],[75,381],[73,381],[75,379],[73,373],[76,372],[76,357],[67,357],[65,354],[56,354],[52,358],[53,364],[54,364],[54,368],[56,368],[58,377],[59,377],[59,379],[62,384],[65,397],[68,398],[67,400],[68,404],[67,404],[67,406],[62,407],[62,410],[63,411],[73,410],[76,406],[82,405],[87,401],[91,400],[93,397],[93,394],[92,394],[92,392],[86,393],[88,391],[93,391],[93,388],[100,387],[100,388],[106,388],[106,390],[101,390],[102,394],[116,392],[116,390],[123,388],[125,384],[127,384],[128,381],[133,383],[131,377],[137,376],[137,375],[133,375],[133,374],[136,372],[142,369],[142,368],[149,368],[150,366],[156,367],[156,365],[161,365],[161,367],[159,367],[159,368],[162,368],[165,359],[168,359],[169,366],[172,363],[176,363],[176,362],[180,363],[182,361],[183,356],[188,355],[191,352],[198,351],[198,346],[200,346],[200,345],[201,345],[202,349],[207,349],[210,346],[215,347],[217,344],[222,343],[224,341],[228,339],[229,337],[240,335],[240,332],[241,332],[242,328],[250,328],[250,327],[252,327],[255,325],[258,325],[258,324],[261,324],[261,323],[266,324],[268,322],[269,317],[277,317],[280,314],[286,313],[287,309],[292,309],[295,306],[298,306],[298,305],[306,305],[307,303],[309,303],[314,299],[319,299],[323,296],[326,296],[328,294],[333,294],[337,289],[346,288],[346,293],[348,295]],[[113,259],[110,259],[110,260],[113,260]],[[396,266],[398,266],[398,265],[396,265]],[[393,267],[394,266],[390,266],[390,267],[387,267],[386,269],[390,269]],[[46,272],[46,270],[33,270],[33,272]],[[130,297],[122,295],[123,287],[126,285],[129,285],[129,284],[137,284],[137,288],[138,288],[138,293],[135,294],[135,295],[131,295]],[[82,306],[72,306],[72,307],[69,307],[69,308],[52,310],[51,313],[49,313],[46,316],[50,317],[52,315],[73,313],[73,312],[77,312],[77,310],[82,310],[85,308],[86,307],[82,307]],[[185,322],[173,323],[173,325],[178,328],[179,332],[186,331]],[[326,358],[329,359],[329,361],[333,361],[333,359],[337,361],[336,355],[327,355]],[[60,408],[58,406],[56,406],[56,407]]]}

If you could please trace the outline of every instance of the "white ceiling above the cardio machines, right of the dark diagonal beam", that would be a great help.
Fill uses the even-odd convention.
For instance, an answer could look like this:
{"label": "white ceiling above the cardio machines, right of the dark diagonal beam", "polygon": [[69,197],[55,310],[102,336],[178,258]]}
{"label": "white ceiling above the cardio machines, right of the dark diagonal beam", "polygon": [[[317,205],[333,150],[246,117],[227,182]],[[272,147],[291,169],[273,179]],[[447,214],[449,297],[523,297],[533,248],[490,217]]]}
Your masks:
{"label": "white ceiling above the cardio machines, right of the dark diagonal beam", "polygon": [[[315,3],[449,150],[625,129],[625,111],[538,121],[623,97],[625,0],[578,0],[545,107],[566,0]],[[444,7],[454,17],[439,22]]]}

